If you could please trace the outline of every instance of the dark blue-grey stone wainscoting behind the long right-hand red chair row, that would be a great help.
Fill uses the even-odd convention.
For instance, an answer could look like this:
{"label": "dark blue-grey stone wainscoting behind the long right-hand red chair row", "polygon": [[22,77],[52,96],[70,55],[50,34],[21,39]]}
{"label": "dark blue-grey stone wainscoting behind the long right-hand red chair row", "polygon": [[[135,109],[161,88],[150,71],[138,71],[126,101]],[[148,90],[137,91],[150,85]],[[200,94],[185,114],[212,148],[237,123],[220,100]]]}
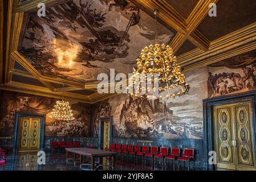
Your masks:
{"label": "dark blue-grey stone wainscoting behind the long right-hand red chair row", "polygon": [[205,167],[202,139],[131,139],[131,138],[113,138],[113,143],[132,144],[140,146],[158,146],[172,148],[194,148],[195,164],[198,167]]}

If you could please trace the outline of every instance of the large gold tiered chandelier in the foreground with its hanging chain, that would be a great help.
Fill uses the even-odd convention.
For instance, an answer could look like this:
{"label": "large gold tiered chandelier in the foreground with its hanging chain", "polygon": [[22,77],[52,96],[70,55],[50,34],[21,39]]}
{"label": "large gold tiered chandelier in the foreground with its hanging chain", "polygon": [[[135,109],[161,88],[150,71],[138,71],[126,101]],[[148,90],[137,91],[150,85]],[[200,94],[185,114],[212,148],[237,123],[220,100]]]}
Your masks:
{"label": "large gold tiered chandelier in the foreground with its hanging chain", "polygon": [[[134,87],[129,94],[136,98],[174,98],[182,96],[189,91],[189,84],[186,84],[186,76],[181,72],[180,65],[177,64],[177,58],[173,55],[173,49],[164,43],[157,43],[157,11],[154,12],[156,20],[156,44],[145,47],[141,50],[137,58],[137,69],[134,69],[133,75],[129,78],[129,87]],[[142,76],[144,75],[144,76]],[[146,76],[145,76],[146,75]],[[149,78],[151,76],[151,78]],[[147,78],[147,84],[159,82],[158,88],[145,88],[142,86]],[[132,85],[131,85],[132,84]],[[128,88],[129,88],[128,87]],[[158,90],[157,90],[158,89]],[[156,90],[160,94],[145,94]],[[141,94],[144,93],[144,94]]]}

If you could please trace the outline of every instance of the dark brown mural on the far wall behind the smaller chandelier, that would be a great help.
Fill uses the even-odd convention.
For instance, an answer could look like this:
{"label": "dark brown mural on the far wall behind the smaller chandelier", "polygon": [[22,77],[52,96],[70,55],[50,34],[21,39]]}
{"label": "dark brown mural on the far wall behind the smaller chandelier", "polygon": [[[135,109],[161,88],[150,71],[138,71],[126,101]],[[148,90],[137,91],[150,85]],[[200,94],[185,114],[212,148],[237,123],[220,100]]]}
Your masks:
{"label": "dark brown mural on the far wall behind the smaller chandelier", "polygon": [[75,120],[55,121],[49,118],[56,99],[30,94],[2,91],[0,112],[0,137],[14,135],[15,113],[46,115],[46,137],[88,137],[90,135],[91,110],[87,104],[71,102]]}

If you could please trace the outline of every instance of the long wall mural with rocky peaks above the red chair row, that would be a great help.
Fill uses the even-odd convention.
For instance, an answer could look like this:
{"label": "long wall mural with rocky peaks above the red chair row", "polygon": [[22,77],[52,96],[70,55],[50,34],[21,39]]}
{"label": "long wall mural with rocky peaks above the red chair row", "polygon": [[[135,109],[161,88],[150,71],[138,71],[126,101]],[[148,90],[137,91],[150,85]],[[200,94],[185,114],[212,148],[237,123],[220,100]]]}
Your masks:
{"label": "long wall mural with rocky peaks above the red chair row", "polygon": [[115,137],[202,138],[202,99],[207,97],[208,70],[201,68],[187,75],[189,93],[174,100],[134,100],[120,94],[96,105],[94,136],[99,118],[112,115]]}

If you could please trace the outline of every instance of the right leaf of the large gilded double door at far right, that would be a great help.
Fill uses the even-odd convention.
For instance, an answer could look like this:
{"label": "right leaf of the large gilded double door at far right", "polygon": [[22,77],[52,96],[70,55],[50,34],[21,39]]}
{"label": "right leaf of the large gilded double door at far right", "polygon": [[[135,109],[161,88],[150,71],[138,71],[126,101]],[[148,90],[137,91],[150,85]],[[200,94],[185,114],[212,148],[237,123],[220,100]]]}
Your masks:
{"label": "right leaf of the large gilded double door at far right", "polygon": [[238,167],[254,167],[253,139],[251,138],[250,105],[234,106],[235,130],[237,133],[237,162]]}

